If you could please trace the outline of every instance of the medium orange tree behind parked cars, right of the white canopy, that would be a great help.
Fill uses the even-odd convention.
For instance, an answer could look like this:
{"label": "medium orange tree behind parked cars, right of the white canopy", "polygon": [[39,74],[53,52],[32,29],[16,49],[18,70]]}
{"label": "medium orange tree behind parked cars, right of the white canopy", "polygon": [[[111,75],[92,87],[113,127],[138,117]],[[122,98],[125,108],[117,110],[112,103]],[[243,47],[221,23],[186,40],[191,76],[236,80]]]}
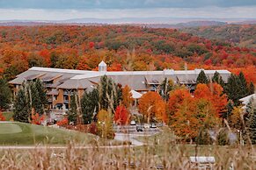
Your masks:
{"label": "medium orange tree behind parked cars, right of the white canopy", "polygon": [[167,121],[165,102],[157,92],[150,91],[139,99],[139,111],[147,118],[147,121],[156,117],[159,121]]}

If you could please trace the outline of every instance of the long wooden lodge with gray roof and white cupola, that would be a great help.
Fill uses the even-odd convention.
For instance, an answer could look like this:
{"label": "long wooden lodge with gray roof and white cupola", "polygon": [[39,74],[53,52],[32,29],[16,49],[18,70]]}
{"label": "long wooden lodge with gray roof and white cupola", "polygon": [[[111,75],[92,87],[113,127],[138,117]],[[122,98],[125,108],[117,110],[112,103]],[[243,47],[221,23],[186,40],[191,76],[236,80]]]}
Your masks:
{"label": "long wooden lodge with gray roof and white cupola", "polygon": [[[108,72],[104,61],[99,63],[99,71],[59,69],[49,67],[32,67],[10,81],[12,92],[15,96],[24,81],[40,79],[48,95],[48,108],[67,110],[69,109],[70,95],[77,91],[79,96],[83,96],[84,90],[90,91],[95,88],[100,81],[100,77],[107,75],[115,83],[122,87],[128,85],[130,89],[141,94],[147,91],[156,91],[159,85],[167,78],[174,83],[184,84],[190,91],[194,90],[196,78],[201,69],[194,70],[173,70],[163,71],[114,71]],[[209,79],[218,72],[224,82],[227,82],[230,72],[227,70],[204,70]]]}

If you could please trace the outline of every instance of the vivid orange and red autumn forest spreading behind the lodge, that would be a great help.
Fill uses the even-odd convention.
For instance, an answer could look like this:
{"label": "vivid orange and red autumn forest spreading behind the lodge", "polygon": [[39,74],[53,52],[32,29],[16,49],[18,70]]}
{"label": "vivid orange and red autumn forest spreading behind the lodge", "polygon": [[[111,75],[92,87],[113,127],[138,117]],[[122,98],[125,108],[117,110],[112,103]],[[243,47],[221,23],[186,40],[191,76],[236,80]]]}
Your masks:
{"label": "vivid orange and red autumn forest spreading behind the lodge", "polygon": [[[242,28],[255,32],[252,25]],[[220,31],[216,28],[213,32]],[[256,83],[255,56],[255,48],[176,29],[128,25],[0,27],[0,76],[7,80],[33,66],[93,70],[105,60],[109,71],[184,69],[187,63],[188,69],[243,71],[247,81]]]}

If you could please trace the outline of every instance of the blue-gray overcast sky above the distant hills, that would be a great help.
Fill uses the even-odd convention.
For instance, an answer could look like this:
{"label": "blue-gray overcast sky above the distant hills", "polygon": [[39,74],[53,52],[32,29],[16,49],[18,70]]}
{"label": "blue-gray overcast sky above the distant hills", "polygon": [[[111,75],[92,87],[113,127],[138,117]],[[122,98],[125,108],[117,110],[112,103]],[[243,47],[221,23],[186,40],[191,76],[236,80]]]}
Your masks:
{"label": "blue-gray overcast sky above the distant hills", "polygon": [[256,0],[0,0],[0,20],[256,18]]}

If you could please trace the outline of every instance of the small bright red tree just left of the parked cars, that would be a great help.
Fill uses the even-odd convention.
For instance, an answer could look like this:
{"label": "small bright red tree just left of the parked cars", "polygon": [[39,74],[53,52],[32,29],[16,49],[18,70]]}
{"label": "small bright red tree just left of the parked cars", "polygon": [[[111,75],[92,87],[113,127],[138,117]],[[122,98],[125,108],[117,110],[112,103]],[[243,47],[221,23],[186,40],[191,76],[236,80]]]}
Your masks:
{"label": "small bright red tree just left of the parked cars", "polygon": [[128,124],[129,123],[129,113],[128,110],[125,108],[124,105],[117,106],[115,113],[114,113],[114,122],[116,124]]}

